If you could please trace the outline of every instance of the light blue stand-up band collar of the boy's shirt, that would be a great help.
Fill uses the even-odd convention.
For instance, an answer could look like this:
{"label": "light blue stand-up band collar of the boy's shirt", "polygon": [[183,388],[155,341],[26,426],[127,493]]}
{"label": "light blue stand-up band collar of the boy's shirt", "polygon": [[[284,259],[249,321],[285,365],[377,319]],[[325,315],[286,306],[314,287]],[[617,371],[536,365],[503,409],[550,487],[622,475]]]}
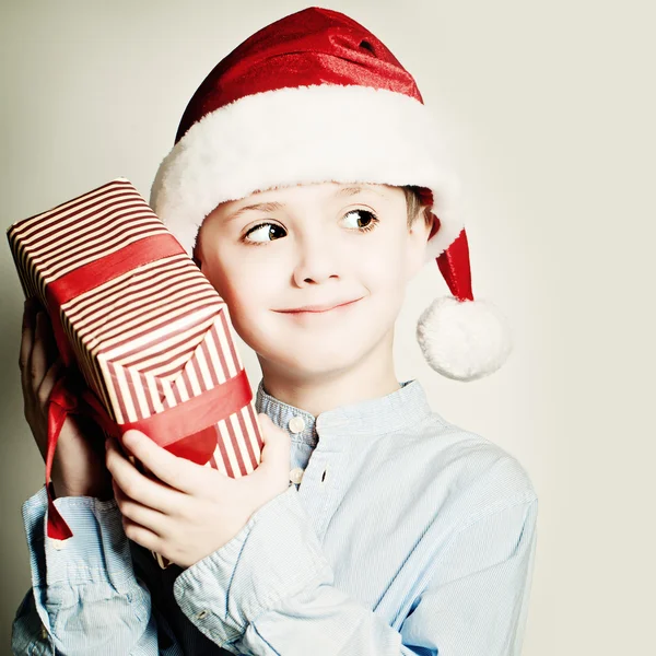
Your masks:
{"label": "light blue stand-up band collar of the boy's shirt", "polygon": [[319,436],[331,440],[374,437],[398,431],[431,413],[419,380],[406,380],[400,385],[399,389],[384,397],[341,406],[315,418],[301,408],[272,397],[265,390],[262,379],[257,389],[255,407],[257,412],[265,412],[273,423],[289,431],[293,442],[316,446]]}

